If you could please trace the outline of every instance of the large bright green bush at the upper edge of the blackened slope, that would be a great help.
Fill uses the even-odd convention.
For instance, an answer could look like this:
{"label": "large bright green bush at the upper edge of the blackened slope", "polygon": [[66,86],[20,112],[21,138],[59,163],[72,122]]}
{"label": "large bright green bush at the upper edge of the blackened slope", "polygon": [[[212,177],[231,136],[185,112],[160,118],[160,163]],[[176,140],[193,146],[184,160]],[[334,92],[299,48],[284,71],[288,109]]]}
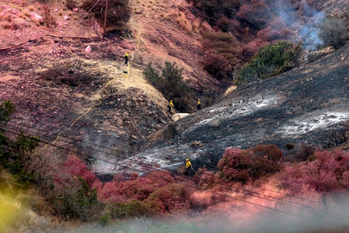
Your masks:
{"label": "large bright green bush at the upper edge of the blackened slope", "polygon": [[280,40],[260,48],[258,54],[249,63],[245,63],[234,73],[234,83],[242,85],[258,79],[269,78],[296,67],[302,47]]}

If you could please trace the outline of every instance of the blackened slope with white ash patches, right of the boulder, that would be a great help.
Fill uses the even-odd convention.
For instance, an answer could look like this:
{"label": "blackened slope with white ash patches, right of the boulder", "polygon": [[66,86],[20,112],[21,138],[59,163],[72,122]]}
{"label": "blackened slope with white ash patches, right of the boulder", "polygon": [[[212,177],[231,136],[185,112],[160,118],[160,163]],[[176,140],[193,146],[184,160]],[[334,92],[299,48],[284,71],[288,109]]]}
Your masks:
{"label": "blackened slope with white ash patches, right of the boulder", "polygon": [[[228,147],[317,143],[322,131],[349,119],[348,55],[346,47],[282,75],[240,86],[216,105],[176,122],[178,138],[157,142],[105,172],[141,171],[151,162],[166,166],[187,157],[194,168],[206,165],[214,170]],[[263,101],[259,89],[265,90]],[[195,153],[188,146],[194,140],[203,144]]]}

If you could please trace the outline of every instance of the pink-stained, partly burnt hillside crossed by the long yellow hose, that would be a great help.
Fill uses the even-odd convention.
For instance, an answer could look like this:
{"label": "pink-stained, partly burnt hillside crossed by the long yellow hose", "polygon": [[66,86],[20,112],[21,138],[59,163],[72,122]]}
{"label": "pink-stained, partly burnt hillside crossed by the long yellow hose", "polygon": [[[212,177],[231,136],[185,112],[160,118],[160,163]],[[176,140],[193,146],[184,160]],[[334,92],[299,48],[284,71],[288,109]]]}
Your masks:
{"label": "pink-stained, partly burnt hillside crossed by the long yellow hose", "polygon": [[[132,41],[126,35],[120,37],[114,33],[108,33],[103,41],[90,27],[90,17],[79,25],[79,21],[73,21],[72,18],[65,21],[62,15],[72,15],[80,20],[86,12],[82,9],[72,12],[62,2],[49,5],[51,14],[57,17],[62,27],[48,29],[36,25],[24,16],[19,17],[23,12],[42,13],[42,7],[36,1],[28,1],[28,4],[21,10],[9,2],[2,6],[2,14],[12,14],[16,25],[15,29],[0,32],[2,92],[47,56],[2,95],[1,100],[10,99],[17,108],[15,119],[9,123],[8,130],[21,130],[26,134],[40,136],[44,143],[54,141],[59,132],[69,128],[76,118],[97,104],[97,98],[103,94],[107,82],[122,76],[122,71],[126,70],[126,66],[121,65],[122,58],[127,51],[135,50],[135,34],[141,32],[140,49],[134,54],[130,76],[119,77],[111,83],[116,88],[113,98],[104,96],[102,104],[78,120],[72,130],[60,135],[57,143],[47,148],[47,153],[54,149],[62,159],[67,155],[79,155],[87,161],[97,158],[92,168],[98,172],[132,155],[142,147],[149,135],[164,128],[171,117],[166,113],[167,100],[142,75],[144,66],[150,61],[158,70],[164,61],[177,62],[184,68],[185,80],[192,82],[194,88],[198,86],[198,81],[204,88],[220,88],[220,83],[201,68],[203,51],[199,47],[199,35],[186,33],[170,15],[171,12],[178,14],[179,8],[182,9],[181,4],[186,4],[185,1],[176,4],[168,1],[131,1],[134,12],[128,28],[133,31]],[[190,17],[190,13],[187,14]],[[84,51],[88,45],[92,47],[91,53]],[[40,73],[52,65],[63,63],[70,64],[75,72],[91,74],[94,77],[91,87],[55,85],[40,77]]]}

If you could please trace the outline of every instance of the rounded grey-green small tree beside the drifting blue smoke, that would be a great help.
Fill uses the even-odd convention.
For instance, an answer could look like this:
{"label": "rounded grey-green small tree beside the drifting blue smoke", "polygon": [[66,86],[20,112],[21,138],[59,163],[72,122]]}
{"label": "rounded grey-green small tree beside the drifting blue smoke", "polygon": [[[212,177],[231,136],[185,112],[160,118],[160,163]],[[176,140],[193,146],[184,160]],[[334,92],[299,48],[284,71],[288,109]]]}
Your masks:
{"label": "rounded grey-green small tree beside the drifting blue smoke", "polygon": [[319,26],[319,37],[325,46],[339,50],[346,42],[346,23],[341,18],[327,18]]}

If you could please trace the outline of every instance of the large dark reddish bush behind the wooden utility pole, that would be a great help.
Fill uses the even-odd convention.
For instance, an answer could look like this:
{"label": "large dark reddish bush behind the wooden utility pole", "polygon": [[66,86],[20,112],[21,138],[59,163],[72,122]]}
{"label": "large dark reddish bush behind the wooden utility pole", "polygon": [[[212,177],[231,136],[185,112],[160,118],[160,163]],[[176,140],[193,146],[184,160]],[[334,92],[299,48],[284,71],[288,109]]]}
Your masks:
{"label": "large dark reddish bush behind the wooden utility pole", "polygon": [[[94,5],[95,0],[85,0],[82,7],[85,10],[90,10]],[[97,19],[104,21],[106,0],[100,0],[94,7],[94,15]],[[120,26],[127,23],[131,17],[131,9],[128,6],[128,0],[110,0],[108,3],[108,25]]]}

